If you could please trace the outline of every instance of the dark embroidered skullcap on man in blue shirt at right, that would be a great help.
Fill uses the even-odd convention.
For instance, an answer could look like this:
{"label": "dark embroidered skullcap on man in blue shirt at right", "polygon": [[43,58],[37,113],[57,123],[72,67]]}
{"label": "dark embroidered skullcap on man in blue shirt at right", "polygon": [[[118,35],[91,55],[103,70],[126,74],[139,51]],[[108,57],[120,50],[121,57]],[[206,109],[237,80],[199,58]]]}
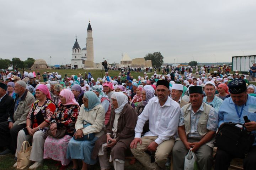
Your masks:
{"label": "dark embroidered skullcap on man in blue shirt at right", "polygon": [[228,87],[231,94],[240,94],[247,89],[246,82],[242,79],[234,79],[230,81]]}

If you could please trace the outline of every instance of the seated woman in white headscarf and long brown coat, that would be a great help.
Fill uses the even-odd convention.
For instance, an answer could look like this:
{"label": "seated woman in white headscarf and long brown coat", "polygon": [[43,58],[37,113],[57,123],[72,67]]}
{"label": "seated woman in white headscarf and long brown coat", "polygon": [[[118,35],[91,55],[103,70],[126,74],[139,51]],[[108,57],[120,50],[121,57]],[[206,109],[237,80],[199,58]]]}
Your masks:
{"label": "seated woman in white headscarf and long brown coat", "polygon": [[[121,92],[112,95],[113,108],[111,118],[106,126],[106,134],[102,135],[95,144],[92,158],[99,158],[101,169],[110,169],[110,163],[114,163],[115,170],[124,169],[125,154],[130,142],[134,138],[137,115],[128,104],[128,98]],[[110,160],[107,148],[111,148]]]}

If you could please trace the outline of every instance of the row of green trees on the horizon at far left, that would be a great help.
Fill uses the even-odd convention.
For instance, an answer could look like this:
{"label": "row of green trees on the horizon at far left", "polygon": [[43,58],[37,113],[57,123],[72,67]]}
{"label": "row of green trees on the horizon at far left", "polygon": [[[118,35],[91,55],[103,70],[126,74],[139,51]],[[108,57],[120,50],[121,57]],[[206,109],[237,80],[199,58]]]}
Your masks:
{"label": "row of green trees on the horizon at far left", "polygon": [[27,58],[26,61],[20,60],[20,58],[12,58],[12,60],[9,59],[2,59],[0,58],[0,69],[7,69],[8,67],[12,68],[30,68],[34,64],[34,58]]}

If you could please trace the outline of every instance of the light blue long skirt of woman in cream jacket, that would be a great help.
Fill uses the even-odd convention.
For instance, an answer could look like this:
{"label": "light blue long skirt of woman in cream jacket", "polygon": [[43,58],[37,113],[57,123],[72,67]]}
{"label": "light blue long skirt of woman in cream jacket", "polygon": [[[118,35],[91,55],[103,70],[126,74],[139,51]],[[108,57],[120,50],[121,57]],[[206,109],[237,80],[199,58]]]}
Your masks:
{"label": "light blue long skirt of woman in cream jacket", "polygon": [[67,159],[81,159],[86,164],[94,165],[97,160],[91,158],[91,153],[98,137],[91,141],[76,141],[72,138],[68,144]]}

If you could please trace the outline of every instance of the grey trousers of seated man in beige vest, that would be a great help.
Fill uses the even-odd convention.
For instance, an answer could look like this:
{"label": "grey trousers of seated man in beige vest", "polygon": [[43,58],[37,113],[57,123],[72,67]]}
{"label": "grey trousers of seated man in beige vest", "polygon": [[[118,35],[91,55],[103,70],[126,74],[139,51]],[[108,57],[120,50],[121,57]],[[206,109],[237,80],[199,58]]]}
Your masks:
{"label": "grey trousers of seated man in beige vest", "polygon": [[[199,142],[200,140],[196,139],[188,139],[188,142]],[[197,163],[199,165],[199,169],[202,170],[211,170],[213,164],[213,156],[212,156],[213,148],[204,144],[195,152],[197,157]],[[172,160],[173,160],[173,169],[174,170],[184,170],[184,161],[185,156],[188,153],[188,149],[183,144],[181,140],[178,140],[174,144],[174,148],[172,149]]]}

